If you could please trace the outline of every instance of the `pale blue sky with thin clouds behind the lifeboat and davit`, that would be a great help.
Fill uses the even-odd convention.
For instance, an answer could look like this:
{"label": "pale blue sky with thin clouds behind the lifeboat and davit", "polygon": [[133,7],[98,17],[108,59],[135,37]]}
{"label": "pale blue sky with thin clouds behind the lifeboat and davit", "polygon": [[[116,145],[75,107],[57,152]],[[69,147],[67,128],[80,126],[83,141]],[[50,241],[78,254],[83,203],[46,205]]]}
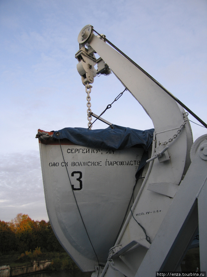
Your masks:
{"label": "pale blue sky with thin clouds behind the lifeboat and davit", "polygon": [[[0,220],[18,213],[48,220],[35,136],[39,128],[87,128],[86,92],[75,59],[87,24],[207,122],[206,0],[0,0]],[[95,114],[124,90],[113,74],[95,77],[92,86]],[[153,128],[128,91],[102,117]],[[93,129],[106,127],[96,121]],[[206,134],[206,128],[191,127],[194,140]]]}

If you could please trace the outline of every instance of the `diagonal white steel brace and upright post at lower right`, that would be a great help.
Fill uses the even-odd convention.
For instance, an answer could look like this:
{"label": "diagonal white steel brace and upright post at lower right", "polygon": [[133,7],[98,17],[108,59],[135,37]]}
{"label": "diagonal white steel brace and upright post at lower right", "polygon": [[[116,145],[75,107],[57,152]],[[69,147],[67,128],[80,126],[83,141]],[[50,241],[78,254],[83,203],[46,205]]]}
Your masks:
{"label": "diagonal white steel brace and upright post at lower right", "polygon": [[[207,136],[206,136],[207,137]],[[202,144],[202,143],[201,143]],[[199,149],[187,171],[184,180],[155,236],[150,249],[141,263],[136,277],[154,276],[164,267],[164,261],[198,198],[199,238],[201,247],[201,271],[206,268],[206,188],[207,161],[199,156]],[[201,198],[200,198],[201,197]],[[200,199],[199,199],[200,198]],[[205,198],[205,200],[204,200]],[[203,203],[205,202],[205,203]],[[202,205],[202,206],[201,206]],[[201,228],[200,228],[201,226]],[[192,234],[193,235],[193,234]],[[205,236],[205,237],[204,237]],[[183,249],[184,251],[185,249]]]}

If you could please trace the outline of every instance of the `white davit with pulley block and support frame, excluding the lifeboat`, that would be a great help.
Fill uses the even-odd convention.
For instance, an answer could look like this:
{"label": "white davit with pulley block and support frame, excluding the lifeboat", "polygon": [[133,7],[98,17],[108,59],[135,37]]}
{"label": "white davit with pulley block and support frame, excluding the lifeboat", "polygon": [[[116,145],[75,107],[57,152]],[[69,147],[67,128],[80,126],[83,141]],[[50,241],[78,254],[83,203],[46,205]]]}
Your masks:
{"label": "white davit with pulley block and support frame, excluding the lifeboat", "polygon": [[[104,36],[95,36],[92,26],[87,25],[81,30],[78,42],[80,50],[76,54],[79,60],[77,69],[83,84],[94,82],[97,74],[94,69],[96,63],[100,73],[105,72],[107,75],[111,69],[150,116],[155,127],[155,154],[163,154],[165,150],[164,159],[160,157],[151,160],[150,171],[136,196],[117,242],[109,253],[101,276],[154,276],[155,271],[176,271],[197,230],[197,199],[201,191],[206,190],[207,178],[206,172],[201,174],[201,178],[196,175],[199,179],[197,187],[194,190],[189,188],[194,186],[194,170],[199,171],[196,163],[196,159],[199,159],[199,147],[194,151],[196,158],[188,170],[192,146],[192,132],[188,120],[174,140],[170,140],[182,126],[185,110],[142,70],[107,45]],[[100,56],[98,60],[94,53]],[[203,140],[201,139],[199,145]],[[163,142],[168,142],[168,148],[162,145]],[[163,147],[166,149],[163,150]],[[202,158],[200,163],[200,168],[204,169],[206,160]],[[191,202],[190,197],[193,199]],[[201,204],[198,205],[198,210],[199,207]],[[200,219],[203,220],[203,214]],[[146,240],[137,221],[146,230],[151,244]],[[203,230],[204,227],[202,224],[201,226]],[[180,248],[178,243],[175,243],[176,240],[180,243]],[[201,253],[203,257],[207,247],[204,248]],[[202,270],[206,270],[204,265]],[[98,273],[93,276],[98,276]]]}

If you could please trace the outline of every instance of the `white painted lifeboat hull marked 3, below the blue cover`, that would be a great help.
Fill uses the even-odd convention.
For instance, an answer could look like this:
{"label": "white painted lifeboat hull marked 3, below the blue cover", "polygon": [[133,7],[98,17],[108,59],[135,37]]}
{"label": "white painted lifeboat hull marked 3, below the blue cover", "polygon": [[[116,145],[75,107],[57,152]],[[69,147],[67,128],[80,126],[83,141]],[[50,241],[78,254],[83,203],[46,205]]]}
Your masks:
{"label": "white painted lifeboat hull marked 3, below the blue cover", "polygon": [[[112,151],[80,145],[40,143],[45,200],[53,230],[83,271],[105,264],[124,219],[142,148]],[[67,170],[66,170],[67,167]],[[82,188],[81,188],[82,187]],[[120,205],[121,203],[121,205]]]}

